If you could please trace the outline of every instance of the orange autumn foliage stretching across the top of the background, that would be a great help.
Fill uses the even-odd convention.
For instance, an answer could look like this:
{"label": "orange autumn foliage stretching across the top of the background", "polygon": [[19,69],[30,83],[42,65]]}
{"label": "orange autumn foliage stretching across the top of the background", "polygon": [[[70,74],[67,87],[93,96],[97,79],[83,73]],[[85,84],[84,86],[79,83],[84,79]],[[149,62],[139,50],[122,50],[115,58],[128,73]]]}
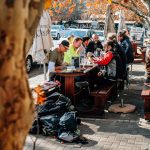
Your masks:
{"label": "orange autumn foliage stretching across the top of the background", "polygon": [[50,14],[53,20],[69,20],[80,16],[86,16],[86,19],[99,16],[100,19],[108,3],[113,4],[114,14],[123,9],[126,20],[149,20],[150,0],[57,0],[53,1]]}

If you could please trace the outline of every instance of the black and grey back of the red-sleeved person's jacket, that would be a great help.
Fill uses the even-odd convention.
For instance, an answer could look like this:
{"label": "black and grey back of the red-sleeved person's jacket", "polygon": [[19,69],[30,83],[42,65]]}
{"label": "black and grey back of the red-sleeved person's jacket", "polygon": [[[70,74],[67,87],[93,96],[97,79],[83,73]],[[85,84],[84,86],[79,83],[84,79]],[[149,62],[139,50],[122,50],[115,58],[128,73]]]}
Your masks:
{"label": "black and grey back of the red-sleeved person's jacket", "polygon": [[[124,76],[124,70],[122,69],[123,64],[121,58],[117,52],[113,50],[111,50],[111,52],[113,53],[113,58],[106,66],[106,78],[109,80],[122,79]],[[109,68],[111,64],[113,64],[113,67],[116,67],[116,69],[114,68],[114,71],[112,71],[112,68]]]}

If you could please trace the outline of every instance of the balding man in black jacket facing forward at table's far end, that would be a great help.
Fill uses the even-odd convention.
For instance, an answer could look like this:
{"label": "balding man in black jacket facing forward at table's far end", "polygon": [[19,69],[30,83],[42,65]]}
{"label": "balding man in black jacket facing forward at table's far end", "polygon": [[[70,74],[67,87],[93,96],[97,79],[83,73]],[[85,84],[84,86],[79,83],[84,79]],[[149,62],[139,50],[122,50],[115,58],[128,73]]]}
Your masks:
{"label": "balding man in black jacket facing forward at table's far end", "polygon": [[102,44],[101,44],[101,42],[99,40],[99,36],[97,34],[93,34],[92,35],[92,41],[89,42],[89,44],[88,44],[88,46],[86,48],[86,53],[88,53],[88,52],[94,53],[98,49],[102,50],[103,46],[102,46]]}

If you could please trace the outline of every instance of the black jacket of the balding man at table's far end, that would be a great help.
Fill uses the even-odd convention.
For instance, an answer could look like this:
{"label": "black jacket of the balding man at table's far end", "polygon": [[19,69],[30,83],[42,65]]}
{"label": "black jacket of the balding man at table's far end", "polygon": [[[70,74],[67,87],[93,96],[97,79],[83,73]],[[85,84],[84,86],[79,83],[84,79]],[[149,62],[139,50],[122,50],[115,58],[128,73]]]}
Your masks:
{"label": "black jacket of the balding man at table's far end", "polygon": [[94,53],[94,51],[96,51],[97,48],[103,49],[101,42],[97,41],[97,43],[95,43],[94,41],[91,41],[86,48],[86,53],[88,52]]}

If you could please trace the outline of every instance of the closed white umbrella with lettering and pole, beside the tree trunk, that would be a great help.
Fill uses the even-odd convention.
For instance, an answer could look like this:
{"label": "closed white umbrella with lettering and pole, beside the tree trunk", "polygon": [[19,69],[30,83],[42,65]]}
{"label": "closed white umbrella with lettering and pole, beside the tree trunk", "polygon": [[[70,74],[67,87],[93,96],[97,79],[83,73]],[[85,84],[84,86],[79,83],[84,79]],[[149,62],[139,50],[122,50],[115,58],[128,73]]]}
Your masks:
{"label": "closed white umbrella with lettering and pole, beside the tree trunk", "polygon": [[46,55],[47,52],[54,46],[51,37],[51,18],[47,10],[43,10],[43,14],[40,18],[40,22],[35,34],[32,49],[35,60],[44,65],[44,80],[46,80]]}

